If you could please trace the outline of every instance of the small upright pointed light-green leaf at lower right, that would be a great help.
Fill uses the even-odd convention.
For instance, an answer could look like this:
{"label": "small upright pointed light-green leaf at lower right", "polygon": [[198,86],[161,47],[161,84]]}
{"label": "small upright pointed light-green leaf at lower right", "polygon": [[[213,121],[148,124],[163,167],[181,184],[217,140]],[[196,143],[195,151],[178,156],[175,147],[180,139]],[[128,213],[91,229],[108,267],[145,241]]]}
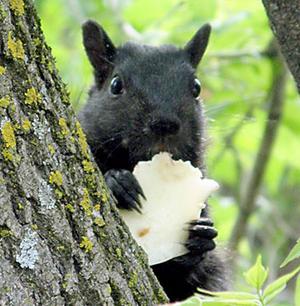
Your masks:
{"label": "small upright pointed light-green leaf at lower right", "polygon": [[259,290],[266,281],[269,270],[261,262],[261,255],[257,256],[256,263],[246,273],[244,273],[247,283]]}

